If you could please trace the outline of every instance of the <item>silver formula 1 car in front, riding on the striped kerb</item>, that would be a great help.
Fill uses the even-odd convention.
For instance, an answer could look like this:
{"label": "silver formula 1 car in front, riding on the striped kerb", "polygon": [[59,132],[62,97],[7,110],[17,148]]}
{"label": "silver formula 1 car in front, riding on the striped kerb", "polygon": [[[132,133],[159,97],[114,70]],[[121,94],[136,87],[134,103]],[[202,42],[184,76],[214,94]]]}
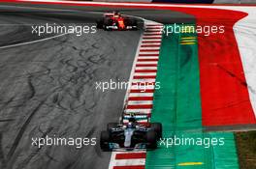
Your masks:
{"label": "silver formula 1 car in front, riding on the striped kerb", "polygon": [[[140,123],[148,115],[126,114],[121,123],[110,123],[107,130],[101,132],[100,146],[103,151],[156,149],[157,141],[162,137],[160,123]],[[124,123],[126,122],[127,123]]]}

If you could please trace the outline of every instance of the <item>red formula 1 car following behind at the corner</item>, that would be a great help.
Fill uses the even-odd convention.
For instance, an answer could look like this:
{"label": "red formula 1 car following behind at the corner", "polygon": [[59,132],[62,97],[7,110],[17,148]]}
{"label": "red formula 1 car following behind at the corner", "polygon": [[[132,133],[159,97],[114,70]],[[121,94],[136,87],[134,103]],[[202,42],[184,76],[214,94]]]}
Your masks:
{"label": "red formula 1 car following behind at the corner", "polygon": [[97,21],[97,28],[104,29],[106,31],[125,31],[125,30],[137,30],[137,20],[128,16],[113,12],[110,14],[104,14],[103,18]]}

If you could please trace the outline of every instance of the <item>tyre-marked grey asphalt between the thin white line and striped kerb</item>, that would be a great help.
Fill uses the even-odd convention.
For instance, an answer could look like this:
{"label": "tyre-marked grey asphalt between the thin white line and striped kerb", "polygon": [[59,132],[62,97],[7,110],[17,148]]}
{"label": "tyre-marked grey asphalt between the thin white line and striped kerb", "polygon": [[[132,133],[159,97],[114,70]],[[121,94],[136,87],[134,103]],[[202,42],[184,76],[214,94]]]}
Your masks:
{"label": "tyre-marked grey asphalt between the thin white line and striped kerb", "polygon": [[95,82],[127,81],[140,35],[99,31],[2,49],[0,168],[108,168],[111,154],[97,154],[97,146],[39,149],[31,137],[93,138],[105,121],[117,120],[125,91],[102,93]]}

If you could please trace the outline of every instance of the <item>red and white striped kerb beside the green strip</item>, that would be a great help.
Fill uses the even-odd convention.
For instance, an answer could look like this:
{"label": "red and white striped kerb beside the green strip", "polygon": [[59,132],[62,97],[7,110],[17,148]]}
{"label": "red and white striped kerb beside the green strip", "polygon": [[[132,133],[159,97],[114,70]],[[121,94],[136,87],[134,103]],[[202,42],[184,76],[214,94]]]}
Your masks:
{"label": "red and white striped kerb beside the green strip", "polygon": [[[153,93],[163,25],[145,21],[144,35],[135,57],[134,68],[131,73],[131,88],[127,91],[125,113],[145,113],[151,115],[153,107]],[[123,120],[123,123],[127,123]],[[139,123],[145,124],[146,120]],[[109,169],[144,169],[146,151],[112,152]]]}

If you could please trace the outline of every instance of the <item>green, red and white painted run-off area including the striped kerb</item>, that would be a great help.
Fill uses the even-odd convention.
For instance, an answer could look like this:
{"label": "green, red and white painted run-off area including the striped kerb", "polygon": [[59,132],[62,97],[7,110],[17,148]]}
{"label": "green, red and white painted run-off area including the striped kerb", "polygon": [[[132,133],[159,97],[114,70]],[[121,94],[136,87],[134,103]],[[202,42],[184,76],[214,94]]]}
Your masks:
{"label": "green, red and white painted run-off area including the striped kerb", "polygon": [[181,32],[167,36],[148,31],[163,26],[161,23],[145,24],[130,80],[160,82],[161,88],[127,91],[126,109],[150,113],[152,122],[163,124],[164,138],[224,138],[225,144],[205,148],[159,143],[155,151],[112,153],[109,168],[239,168],[231,131],[256,128],[256,7],[16,2],[169,10],[194,15],[195,22],[189,23],[192,26],[224,26],[223,34]]}

